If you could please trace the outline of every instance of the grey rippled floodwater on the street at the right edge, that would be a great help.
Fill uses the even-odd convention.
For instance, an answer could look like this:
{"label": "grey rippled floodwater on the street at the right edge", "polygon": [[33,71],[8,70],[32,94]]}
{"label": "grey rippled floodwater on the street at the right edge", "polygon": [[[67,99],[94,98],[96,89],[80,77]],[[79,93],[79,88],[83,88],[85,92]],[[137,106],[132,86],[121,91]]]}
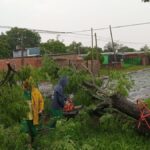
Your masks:
{"label": "grey rippled floodwater on the street at the right edge", "polygon": [[150,98],[150,69],[130,73],[134,85],[129,92],[128,99],[136,101],[138,98]]}

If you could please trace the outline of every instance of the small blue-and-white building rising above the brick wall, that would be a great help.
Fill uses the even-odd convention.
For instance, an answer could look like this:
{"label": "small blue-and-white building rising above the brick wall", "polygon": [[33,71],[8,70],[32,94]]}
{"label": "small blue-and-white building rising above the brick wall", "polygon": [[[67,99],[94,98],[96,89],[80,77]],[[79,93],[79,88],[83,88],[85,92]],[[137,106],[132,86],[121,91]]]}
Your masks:
{"label": "small blue-and-white building rising above the brick wall", "polygon": [[[40,48],[33,47],[33,48],[26,48],[23,50],[24,57],[31,57],[31,56],[39,56],[40,55]],[[13,51],[13,58],[22,57],[22,50],[16,49]]]}

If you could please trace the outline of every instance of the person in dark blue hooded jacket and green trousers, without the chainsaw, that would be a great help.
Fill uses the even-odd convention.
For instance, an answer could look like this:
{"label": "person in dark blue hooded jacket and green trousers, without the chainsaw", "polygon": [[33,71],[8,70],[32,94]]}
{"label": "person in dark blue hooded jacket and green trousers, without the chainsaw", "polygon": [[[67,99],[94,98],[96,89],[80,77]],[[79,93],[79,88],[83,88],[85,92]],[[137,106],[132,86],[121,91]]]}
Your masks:
{"label": "person in dark blue hooded jacket and green trousers, without the chainsaw", "polygon": [[51,104],[52,123],[51,127],[55,127],[57,120],[63,115],[63,108],[67,97],[64,94],[64,89],[68,84],[68,78],[62,77],[58,84],[54,87],[54,97]]}

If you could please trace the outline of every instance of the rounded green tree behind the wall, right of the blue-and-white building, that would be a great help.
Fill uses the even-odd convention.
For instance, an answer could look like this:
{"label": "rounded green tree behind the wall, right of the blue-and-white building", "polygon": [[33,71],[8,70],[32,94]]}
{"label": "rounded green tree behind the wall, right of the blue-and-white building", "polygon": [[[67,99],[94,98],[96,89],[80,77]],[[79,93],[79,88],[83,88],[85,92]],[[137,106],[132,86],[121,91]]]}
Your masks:
{"label": "rounded green tree behind the wall, right of the blue-and-white building", "polygon": [[41,44],[41,53],[50,54],[50,53],[65,53],[66,46],[64,43],[58,40],[48,40],[46,43]]}

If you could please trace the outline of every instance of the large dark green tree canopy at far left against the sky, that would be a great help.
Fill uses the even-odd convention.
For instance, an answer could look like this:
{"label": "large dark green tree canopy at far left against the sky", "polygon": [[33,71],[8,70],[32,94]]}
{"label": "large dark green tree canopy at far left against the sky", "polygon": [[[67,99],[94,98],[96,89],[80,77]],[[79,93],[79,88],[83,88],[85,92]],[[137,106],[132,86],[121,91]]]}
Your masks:
{"label": "large dark green tree canopy at far left against the sky", "polygon": [[9,58],[16,46],[27,48],[39,46],[41,37],[37,32],[28,29],[12,28],[0,35],[0,58]]}

